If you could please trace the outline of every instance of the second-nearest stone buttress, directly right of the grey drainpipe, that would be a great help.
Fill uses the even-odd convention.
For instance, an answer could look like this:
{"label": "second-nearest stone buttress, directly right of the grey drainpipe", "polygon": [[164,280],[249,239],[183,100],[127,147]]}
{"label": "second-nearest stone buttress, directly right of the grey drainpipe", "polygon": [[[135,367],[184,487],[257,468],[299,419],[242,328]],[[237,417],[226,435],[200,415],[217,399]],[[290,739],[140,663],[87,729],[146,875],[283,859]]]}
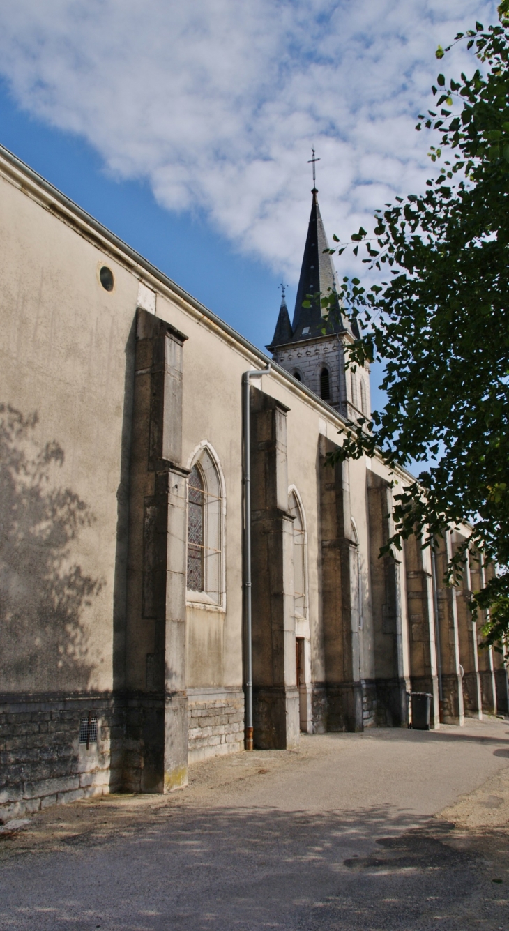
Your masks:
{"label": "second-nearest stone buttress, directly right of the grey drainpipe", "polygon": [[253,386],[250,397],[254,741],[258,749],[287,749],[300,735],[288,408]]}

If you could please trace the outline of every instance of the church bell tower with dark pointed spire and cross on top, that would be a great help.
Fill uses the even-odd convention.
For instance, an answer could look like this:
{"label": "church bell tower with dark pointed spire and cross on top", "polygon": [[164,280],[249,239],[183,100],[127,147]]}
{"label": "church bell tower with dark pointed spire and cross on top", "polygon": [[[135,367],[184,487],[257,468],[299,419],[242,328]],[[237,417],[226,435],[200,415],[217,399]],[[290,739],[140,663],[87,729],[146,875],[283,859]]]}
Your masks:
{"label": "church bell tower with dark pointed spire and cross on top", "polygon": [[[302,385],[315,391],[343,417],[355,420],[360,415],[369,416],[371,412],[369,371],[367,366],[357,368],[355,372],[344,368],[346,347],[358,338],[358,331],[342,314],[338,278],[328,254],[328,240],[318,206],[315,186],[317,160],[313,150],[313,202],[293,320],[290,323],[283,286],[275,333],[266,348],[273,354],[275,362]],[[324,316],[319,295],[330,292],[335,295],[335,300],[328,319]],[[310,306],[304,307],[304,301],[309,301]]]}

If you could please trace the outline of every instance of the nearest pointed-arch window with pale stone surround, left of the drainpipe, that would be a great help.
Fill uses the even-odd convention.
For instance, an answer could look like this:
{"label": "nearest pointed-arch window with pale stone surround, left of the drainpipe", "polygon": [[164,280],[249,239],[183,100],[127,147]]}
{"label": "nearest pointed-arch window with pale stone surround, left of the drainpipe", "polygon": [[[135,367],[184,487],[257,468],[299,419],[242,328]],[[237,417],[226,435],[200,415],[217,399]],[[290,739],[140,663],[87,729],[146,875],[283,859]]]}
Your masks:
{"label": "nearest pointed-arch window with pale stone surround, left of the drainpipe", "polygon": [[219,467],[203,446],[194,457],[188,479],[187,590],[190,600],[217,605],[222,603],[224,588],[221,489]]}

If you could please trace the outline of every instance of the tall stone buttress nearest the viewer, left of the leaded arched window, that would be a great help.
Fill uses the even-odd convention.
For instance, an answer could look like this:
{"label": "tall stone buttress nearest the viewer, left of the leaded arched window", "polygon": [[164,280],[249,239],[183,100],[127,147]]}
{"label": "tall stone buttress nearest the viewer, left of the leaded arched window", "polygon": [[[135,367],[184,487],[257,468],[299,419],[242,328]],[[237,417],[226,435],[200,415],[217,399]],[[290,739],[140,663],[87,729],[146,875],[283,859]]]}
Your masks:
{"label": "tall stone buttress nearest the viewer, left of the leaded arched window", "polygon": [[187,782],[185,691],[187,469],[181,463],[186,337],[139,308],[135,365],[124,783]]}

